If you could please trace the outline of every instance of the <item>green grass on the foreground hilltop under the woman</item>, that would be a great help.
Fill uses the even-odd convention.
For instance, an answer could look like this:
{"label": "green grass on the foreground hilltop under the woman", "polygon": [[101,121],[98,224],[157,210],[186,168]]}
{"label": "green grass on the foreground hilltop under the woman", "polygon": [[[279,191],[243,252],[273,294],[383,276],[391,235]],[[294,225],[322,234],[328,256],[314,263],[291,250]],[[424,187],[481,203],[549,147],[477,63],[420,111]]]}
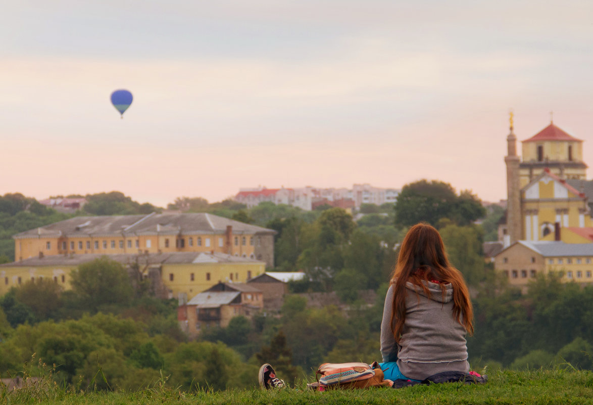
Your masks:
{"label": "green grass on the foreground hilltop under the woman", "polygon": [[286,388],[278,391],[242,390],[183,393],[155,384],[134,393],[85,393],[53,384],[7,392],[0,404],[144,405],[144,404],[593,404],[593,372],[563,369],[527,372],[497,371],[485,385],[461,383],[416,385],[393,390],[372,388],[323,393]]}

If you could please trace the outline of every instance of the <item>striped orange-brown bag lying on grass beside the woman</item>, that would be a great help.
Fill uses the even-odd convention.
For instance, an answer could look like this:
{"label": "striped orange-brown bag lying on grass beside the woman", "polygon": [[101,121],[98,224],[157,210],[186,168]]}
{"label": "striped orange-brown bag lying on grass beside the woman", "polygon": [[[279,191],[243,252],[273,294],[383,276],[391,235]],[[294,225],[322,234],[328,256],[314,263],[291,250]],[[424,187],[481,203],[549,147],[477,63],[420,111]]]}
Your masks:
{"label": "striped orange-brown bag lying on grass beside the woman", "polygon": [[[321,375],[321,378],[318,378]],[[366,363],[323,363],[315,372],[319,391],[328,388],[352,390],[355,388],[391,387],[393,381],[383,378],[383,371],[377,362]]]}

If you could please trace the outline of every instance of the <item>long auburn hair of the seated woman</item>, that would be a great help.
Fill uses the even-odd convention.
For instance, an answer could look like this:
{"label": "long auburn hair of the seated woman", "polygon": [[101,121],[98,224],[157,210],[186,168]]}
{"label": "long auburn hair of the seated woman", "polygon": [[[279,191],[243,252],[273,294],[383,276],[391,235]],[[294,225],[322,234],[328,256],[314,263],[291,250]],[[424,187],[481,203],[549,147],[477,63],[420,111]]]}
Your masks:
{"label": "long auburn hair of the seated woman", "polygon": [[443,297],[447,292],[445,284],[452,284],[453,317],[466,328],[468,334],[473,334],[473,309],[463,275],[449,263],[445,245],[438,230],[421,222],[406,233],[406,237],[401,242],[396,267],[391,274],[390,284],[393,286],[391,327],[396,341],[400,341],[401,331],[406,322],[406,282],[410,281],[419,286],[429,296],[429,289],[422,280],[441,281],[439,285]]}

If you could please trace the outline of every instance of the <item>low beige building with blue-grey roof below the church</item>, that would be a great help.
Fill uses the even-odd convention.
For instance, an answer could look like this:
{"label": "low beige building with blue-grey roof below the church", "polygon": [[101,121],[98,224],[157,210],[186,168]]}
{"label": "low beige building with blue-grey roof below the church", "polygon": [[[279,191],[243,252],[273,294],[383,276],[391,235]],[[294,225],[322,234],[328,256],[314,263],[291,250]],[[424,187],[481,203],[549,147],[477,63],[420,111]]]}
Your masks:
{"label": "low beige building with blue-grey roof below the church", "polygon": [[514,286],[525,287],[551,271],[560,272],[564,282],[593,283],[593,243],[519,241],[503,249],[494,262]]}

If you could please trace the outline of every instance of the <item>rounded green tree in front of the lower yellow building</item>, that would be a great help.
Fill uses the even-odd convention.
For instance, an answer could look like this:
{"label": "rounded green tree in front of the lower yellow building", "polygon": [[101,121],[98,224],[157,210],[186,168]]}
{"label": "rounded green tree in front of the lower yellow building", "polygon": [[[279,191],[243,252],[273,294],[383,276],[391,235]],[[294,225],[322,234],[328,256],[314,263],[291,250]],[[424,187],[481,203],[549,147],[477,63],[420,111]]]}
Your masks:
{"label": "rounded green tree in front of the lower yellow building", "polygon": [[78,271],[72,271],[71,286],[82,305],[94,312],[101,305],[125,306],[133,297],[126,269],[107,257],[79,265]]}

